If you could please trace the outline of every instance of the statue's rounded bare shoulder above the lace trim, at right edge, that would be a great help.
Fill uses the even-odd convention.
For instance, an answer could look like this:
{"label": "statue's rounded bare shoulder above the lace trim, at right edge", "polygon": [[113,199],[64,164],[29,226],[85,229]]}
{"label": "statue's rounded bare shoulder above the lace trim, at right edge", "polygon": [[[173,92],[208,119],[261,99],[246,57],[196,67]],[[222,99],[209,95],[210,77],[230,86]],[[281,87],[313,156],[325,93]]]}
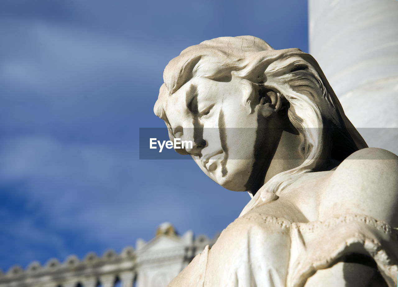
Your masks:
{"label": "statue's rounded bare shoulder above the lace trim, at right edge", "polygon": [[322,193],[320,220],[350,213],[398,226],[398,157],[394,153],[361,149],[333,172]]}

